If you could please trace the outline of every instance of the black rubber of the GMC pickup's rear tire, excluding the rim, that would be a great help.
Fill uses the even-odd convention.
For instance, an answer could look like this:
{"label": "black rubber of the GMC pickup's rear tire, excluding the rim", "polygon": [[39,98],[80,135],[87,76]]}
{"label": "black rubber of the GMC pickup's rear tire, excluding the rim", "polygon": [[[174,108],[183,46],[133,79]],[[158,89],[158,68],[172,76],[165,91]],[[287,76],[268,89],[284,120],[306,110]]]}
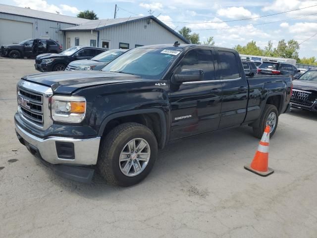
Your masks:
{"label": "black rubber of the GMC pickup's rear tire, excluding the rim", "polygon": [[266,127],[266,120],[268,118],[268,115],[270,113],[274,113],[275,116],[276,116],[276,123],[275,123],[275,127],[274,129],[270,132],[269,136],[272,137],[276,131],[276,128],[277,128],[277,124],[278,124],[278,111],[277,111],[277,108],[274,106],[274,105],[271,105],[271,104],[265,104],[265,107],[264,107],[264,111],[261,115],[261,118],[260,118],[260,123],[257,125],[257,126],[254,126],[253,127],[253,135],[259,139],[262,138],[263,136],[263,132],[264,132],[264,129]]}

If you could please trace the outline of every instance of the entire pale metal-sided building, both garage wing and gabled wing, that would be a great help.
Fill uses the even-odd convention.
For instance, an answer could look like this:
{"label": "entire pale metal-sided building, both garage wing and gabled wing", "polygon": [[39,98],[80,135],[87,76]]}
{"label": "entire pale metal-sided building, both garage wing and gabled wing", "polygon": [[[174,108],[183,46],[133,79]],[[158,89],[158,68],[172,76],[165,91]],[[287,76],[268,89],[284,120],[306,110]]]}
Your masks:
{"label": "entire pale metal-sided building, both garage wing and gabled wing", "polygon": [[88,20],[0,4],[0,46],[35,38],[55,40],[63,49],[77,45],[132,49],[175,41],[189,43],[154,16]]}

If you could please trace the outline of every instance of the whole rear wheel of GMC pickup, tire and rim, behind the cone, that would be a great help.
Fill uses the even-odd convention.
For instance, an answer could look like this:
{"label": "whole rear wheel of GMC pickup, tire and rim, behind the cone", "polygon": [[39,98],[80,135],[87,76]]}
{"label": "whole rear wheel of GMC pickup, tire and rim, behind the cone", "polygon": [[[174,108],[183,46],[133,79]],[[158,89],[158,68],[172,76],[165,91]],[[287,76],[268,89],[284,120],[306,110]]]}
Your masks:
{"label": "whole rear wheel of GMC pickup, tire and rim, behind the cone", "polygon": [[272,137],[276,131],[278,124],[278,111],[274,105],[266,104],[260,118],[260,124],[253,127],[253,134],[257,138],[262,138],[264,129],[270,126],[269,136]]}

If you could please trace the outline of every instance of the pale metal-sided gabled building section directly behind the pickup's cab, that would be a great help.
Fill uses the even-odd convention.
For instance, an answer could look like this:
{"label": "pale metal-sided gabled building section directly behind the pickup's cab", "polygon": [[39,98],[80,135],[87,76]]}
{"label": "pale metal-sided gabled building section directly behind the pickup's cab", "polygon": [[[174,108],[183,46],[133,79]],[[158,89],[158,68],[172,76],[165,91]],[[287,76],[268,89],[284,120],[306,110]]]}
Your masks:
{"label": "pale metal-sided gabled building section directly behind the pickup's cab", "polygon": [[91,20],[62,31],[65,32],[66,48],[78,45],[132,49],[175,41],[189,43],[154,16]]}

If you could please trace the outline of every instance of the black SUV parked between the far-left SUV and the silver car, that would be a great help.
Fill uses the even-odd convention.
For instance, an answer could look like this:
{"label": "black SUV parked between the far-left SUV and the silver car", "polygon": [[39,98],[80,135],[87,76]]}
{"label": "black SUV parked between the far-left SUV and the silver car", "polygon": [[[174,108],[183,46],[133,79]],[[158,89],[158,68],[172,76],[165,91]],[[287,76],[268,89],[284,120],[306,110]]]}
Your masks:
{"label": "black SUV parked between the far-left SUV and the silver car", "polygon": [[34,66],[41,72],[63,71],[71,61],[90,60],[105,51],[105,48],[75,46],[60,54],[39,55]]}

